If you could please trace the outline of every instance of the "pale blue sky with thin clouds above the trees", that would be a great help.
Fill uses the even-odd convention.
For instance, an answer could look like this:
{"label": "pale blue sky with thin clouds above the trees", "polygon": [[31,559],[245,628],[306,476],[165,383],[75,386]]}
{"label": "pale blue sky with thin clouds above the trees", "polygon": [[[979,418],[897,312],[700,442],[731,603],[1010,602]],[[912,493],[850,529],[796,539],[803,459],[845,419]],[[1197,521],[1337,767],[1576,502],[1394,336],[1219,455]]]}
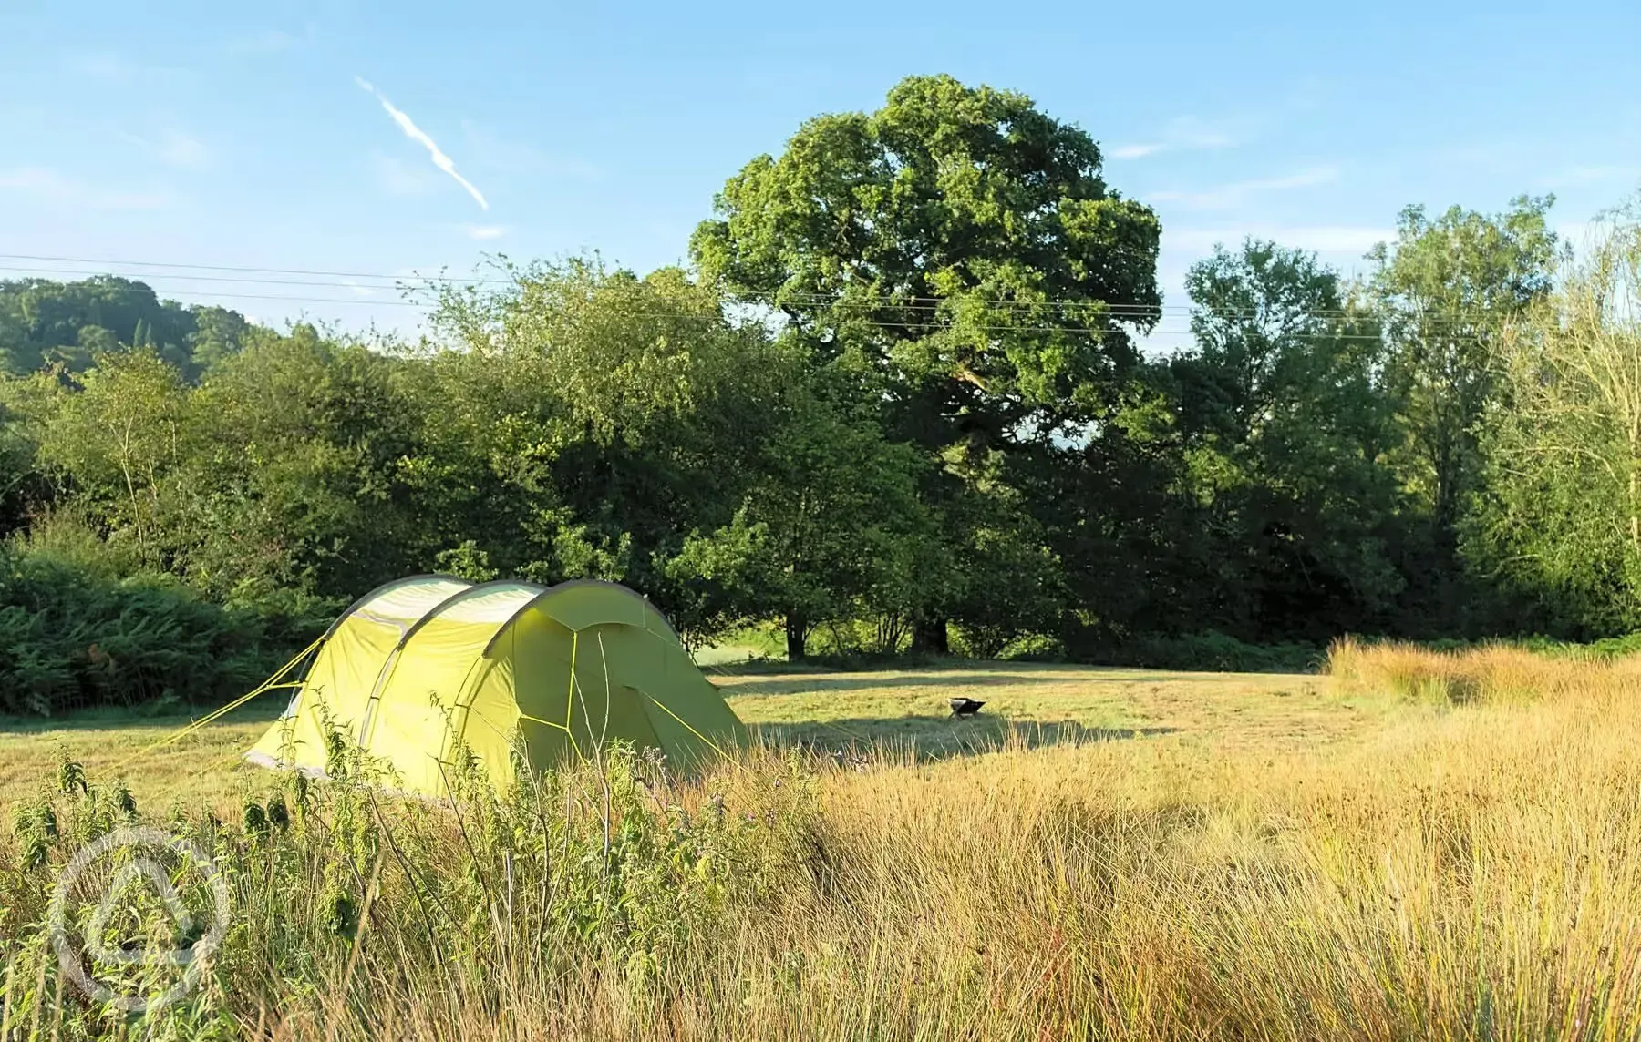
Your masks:
{"label": "pale blue sky with thin clouds above the trees", "polygon": [[1411,202],[1554,192],[1577,233],[1641,185],[1634,0],[5,8],[0,277],[120,270],[276,323],[409,331],[418,311],[386,280],[161,265],[466,274],[599,251],[648,270],[684,257],[742,164],[907,74],[1021,90],[1093,134],[1109,183],[1162,216],[1170,306],[1219,239],[1351,270]]}

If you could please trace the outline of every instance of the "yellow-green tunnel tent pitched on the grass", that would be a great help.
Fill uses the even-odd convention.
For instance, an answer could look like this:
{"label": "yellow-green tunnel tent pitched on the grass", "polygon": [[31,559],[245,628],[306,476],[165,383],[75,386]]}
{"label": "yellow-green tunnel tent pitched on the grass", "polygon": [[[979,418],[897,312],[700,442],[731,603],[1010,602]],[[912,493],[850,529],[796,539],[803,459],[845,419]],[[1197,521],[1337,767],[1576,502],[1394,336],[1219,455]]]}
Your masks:
{"label": "yellow-green tunnel tent pitched on the grass", "polygon": [[422,575],[331,626],[286,714],[246,754],[323,773],[340,732],[440,796],[466,750],[497,785],[612,741],[693,770],[747,742],[666,618],[625,587]]}

